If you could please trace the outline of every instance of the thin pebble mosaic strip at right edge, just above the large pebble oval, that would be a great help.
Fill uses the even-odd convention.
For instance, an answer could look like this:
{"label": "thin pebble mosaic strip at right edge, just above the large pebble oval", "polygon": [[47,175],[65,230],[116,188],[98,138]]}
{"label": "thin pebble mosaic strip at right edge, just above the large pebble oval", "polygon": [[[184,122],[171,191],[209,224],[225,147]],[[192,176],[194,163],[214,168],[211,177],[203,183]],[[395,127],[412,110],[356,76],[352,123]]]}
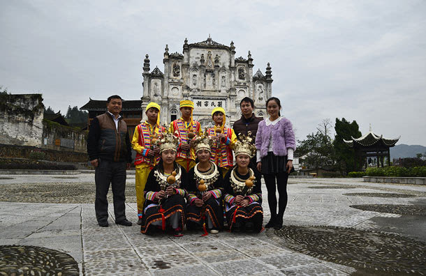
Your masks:
{"label": "thin pebble mosaic strip at right edge, just above the large pebble oval", "polygon": [[426,215],[426,206],[423,205],[365,204],[351,205],[349,207],[359,210],[369,210],[373,212],[397,215]]}

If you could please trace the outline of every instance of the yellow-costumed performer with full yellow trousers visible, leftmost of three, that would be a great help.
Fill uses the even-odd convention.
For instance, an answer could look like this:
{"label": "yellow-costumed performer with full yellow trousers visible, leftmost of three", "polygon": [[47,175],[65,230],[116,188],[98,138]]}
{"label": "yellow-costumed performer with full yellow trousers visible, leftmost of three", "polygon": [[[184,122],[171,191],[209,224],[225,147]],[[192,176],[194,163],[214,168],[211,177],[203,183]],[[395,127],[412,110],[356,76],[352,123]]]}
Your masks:
{"label": "yellow-costumed performer with full yellow trousers visible, leftmost of three", "polygon": [[155,102],[149,102],[145,109],[148,120],[135,128],[133,134],[132,147],[136,151],[135,157],[135,182],[136,182],[136,201],[138,203],[138,224],[142,224],[143,204],[145,197],[145,183],[147,182],[149,171],[160,160],[160,149],[155,146],[156,139],[159,139],[166,128],[159,124],[160,106]]}

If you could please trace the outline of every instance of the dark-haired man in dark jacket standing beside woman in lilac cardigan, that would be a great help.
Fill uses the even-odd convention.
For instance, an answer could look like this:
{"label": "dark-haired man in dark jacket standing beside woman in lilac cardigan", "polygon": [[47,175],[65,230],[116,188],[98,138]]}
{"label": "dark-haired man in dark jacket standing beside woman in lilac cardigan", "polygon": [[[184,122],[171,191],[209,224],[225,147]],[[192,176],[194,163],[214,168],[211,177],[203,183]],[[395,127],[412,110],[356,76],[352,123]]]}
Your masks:
{"label": "dark-haired man in dark jacket standing beside woman in lilac cardigan", "polygon": [[[235,135],[238,135],[240,133],[247,135],[247,132],[251,131],[251,137],[254,139],[253,141],[256,141],[256,132],[258,132],[258,124],[260,121],[263,120],[263,118],[258,118],[254,116],[253,109],[254,109],[254,102],[249,97],[245,97],[240,102],[240,109],[241,109],[241,118],[238,121],[235,121],[233,125],[233,130],[235,132]],[[251,158],[250,160],[251,165],[256,168],[256,155],[254,155],[254,158]]]}

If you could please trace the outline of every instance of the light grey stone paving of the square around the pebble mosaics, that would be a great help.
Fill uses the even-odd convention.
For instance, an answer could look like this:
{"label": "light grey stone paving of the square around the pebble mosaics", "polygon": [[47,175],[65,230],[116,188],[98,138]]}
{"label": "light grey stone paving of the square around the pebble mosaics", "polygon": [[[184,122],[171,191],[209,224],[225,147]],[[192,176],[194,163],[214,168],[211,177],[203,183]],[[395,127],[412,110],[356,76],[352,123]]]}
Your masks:
{"label": "light grey stone paving of the square around the pebble mosaics", "polygon": [[[17,176],[0,179],[2,185],[31,183],[85,183],[94,185],[93,175],[73,178]],[[87,184],[91,183],[91,184]],[[134,187],[134,178],[128,177]],[[363,183],[351,178],[310,178],[288,181],[288,207],[284,224],[329,225],[354,229],[382,229],[381,220],[398,220],[401,215],[358,210],[360,204],[418,204],[425,201],[426,187]],[[345,188],[344,186],[347,186]],[[312,186],[343,186],[339,189],[312,189]],[[0,190],[1,191],[1,190]],[[414,197],[386,198],[343,195],[346,193],[399,192]],[[1,194],[1,192],[0,192]],[[266,188],[263,185],[264,223],[269,220]],[[66,200],[66,199],[64,199]],[[94,200],[94,199],[90,199]],[[419,201],[420,200],[420,201]],[[423,201],[421,201],[423,200]],[[112,201],[110,201],[112,203]],[[38,245],[73,256],[81,275],[350,275],[355,268],[323,261],[295,252],[266,235],[222,231],[201,237],[200,232],[184,232],[184,237],[168,234],[143,235],[135,222],[135,203],[126,204],[132,227],[115,224],[109,206],[110,227],[98,227],[91,201],[80,204],[38,204],[0,202],[0,245]],[[400,227],[387,229],[399,233]],[[267,233],[274,233],[267,230]],[[274,235],[272,235],[274,236]],[[411,238],[425,240],[421,234]],[[277,237],[278,238],[278,237]]]}

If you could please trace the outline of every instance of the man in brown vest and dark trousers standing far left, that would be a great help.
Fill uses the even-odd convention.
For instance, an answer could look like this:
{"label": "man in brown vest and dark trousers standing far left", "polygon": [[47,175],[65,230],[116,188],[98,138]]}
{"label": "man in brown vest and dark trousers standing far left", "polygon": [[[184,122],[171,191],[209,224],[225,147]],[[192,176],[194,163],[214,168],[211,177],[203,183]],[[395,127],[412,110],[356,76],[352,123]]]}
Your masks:
{"label": "man in brown vest and dark trousers standing far left", "polygon": [[122,98],[112,95],[107,100],[108,111],[96,116],[90,123],[87,137],[87,153],[95,167],[96,220],[101,227],[108,227],[107,194],[112,185],[115,223],[131,226],[126,219],[124,190],[126,190],[126,169],[131,163],[131,143],[126,122],[119,115],[122,112]]}

